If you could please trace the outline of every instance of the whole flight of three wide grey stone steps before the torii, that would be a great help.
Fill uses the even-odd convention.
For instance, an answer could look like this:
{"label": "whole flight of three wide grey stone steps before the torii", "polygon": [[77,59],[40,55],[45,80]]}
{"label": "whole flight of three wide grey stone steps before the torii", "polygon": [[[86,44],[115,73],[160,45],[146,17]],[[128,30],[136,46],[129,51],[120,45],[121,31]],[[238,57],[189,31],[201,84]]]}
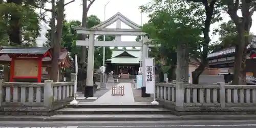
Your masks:
{"label": "whole flight of three wide grey stone steps before the torii", "polygon": [[80,103],[58,110],[45,121],[160,121],[178,120],[169,110],[150,102]]}

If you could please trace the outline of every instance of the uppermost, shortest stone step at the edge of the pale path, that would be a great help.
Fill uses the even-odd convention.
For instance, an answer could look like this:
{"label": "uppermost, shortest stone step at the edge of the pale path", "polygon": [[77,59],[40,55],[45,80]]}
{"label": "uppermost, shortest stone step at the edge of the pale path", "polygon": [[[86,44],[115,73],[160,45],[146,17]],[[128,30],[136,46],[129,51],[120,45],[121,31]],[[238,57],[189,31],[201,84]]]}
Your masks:
{"label": "uppermost, shortest stone step at the edge of the pale path", "polygon": [[80,102],[78,105],[68,105],[67,108],[162,108],[162,106],[153,105],[150,102],[134,102],[134,103]]}

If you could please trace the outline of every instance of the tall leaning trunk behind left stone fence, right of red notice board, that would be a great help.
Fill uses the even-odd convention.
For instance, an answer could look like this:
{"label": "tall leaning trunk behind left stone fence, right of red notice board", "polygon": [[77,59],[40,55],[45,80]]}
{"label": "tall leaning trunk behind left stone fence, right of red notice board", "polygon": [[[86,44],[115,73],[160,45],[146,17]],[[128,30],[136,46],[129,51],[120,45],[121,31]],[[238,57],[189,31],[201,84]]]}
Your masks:
{"label": "tall leaning trunk behind left stone fence, right of red notice board", "polygon": [[62,27],[63,27],[63,20],[64,20],[64,3],[65,0],[59,0],[57,5],[57,28],[55,32],[55,44],[53,48],[53,56],[52,56],[52,68],[51,68],[51,80],[57,82],[58,80],[58,58],[60,54],[60,47],[61,47],[61,35],[62,35]]}

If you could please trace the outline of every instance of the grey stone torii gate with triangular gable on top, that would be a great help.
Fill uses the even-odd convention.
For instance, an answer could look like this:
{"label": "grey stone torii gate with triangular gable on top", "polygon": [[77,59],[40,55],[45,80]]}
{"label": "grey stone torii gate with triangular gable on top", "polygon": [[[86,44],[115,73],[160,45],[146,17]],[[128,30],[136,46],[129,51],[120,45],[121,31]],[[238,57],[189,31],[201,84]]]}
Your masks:
{"label": "grey stone torii gate with triangular gable on top", "polygon": [[[108,29],[106,27],[116,22],[116,29]],[[132,29],[121,29],[121,22],[131,27]],[[104,22],[92,28],[83,28],[72,26],[77,34],[89,35],[89,39],[77,40],[77,46],[88,46],[88,66],[87,66],[87,81],[86,92],[87,97],[93,97],[93,75],[94,75],[94,47],[142,47],[142,62],[148,57],[148,47],[153,45],[144,45],[148,41],[145,32],[142,32],[141,26],[132,22],[129,18],[117,12],[115,15],[105,20]],[[115,35],[115,41],[98,41],[95,40],[95,35]],[[143,35],[142,41],[122,41],[121,35]],[[145,67],[142,67],[145,71]],[[145,87],[145,72],[142,74],[142,83]]]}

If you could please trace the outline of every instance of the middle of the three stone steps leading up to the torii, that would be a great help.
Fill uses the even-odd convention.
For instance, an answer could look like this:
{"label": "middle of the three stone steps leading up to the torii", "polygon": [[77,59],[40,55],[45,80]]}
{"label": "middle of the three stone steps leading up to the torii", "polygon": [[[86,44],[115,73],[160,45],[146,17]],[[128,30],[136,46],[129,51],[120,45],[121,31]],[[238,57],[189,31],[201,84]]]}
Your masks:
{"label": "middle of the three stone steps leading up to the torii", "polygon": [[57,114],[170,114],[163,108],[65,108]]}

